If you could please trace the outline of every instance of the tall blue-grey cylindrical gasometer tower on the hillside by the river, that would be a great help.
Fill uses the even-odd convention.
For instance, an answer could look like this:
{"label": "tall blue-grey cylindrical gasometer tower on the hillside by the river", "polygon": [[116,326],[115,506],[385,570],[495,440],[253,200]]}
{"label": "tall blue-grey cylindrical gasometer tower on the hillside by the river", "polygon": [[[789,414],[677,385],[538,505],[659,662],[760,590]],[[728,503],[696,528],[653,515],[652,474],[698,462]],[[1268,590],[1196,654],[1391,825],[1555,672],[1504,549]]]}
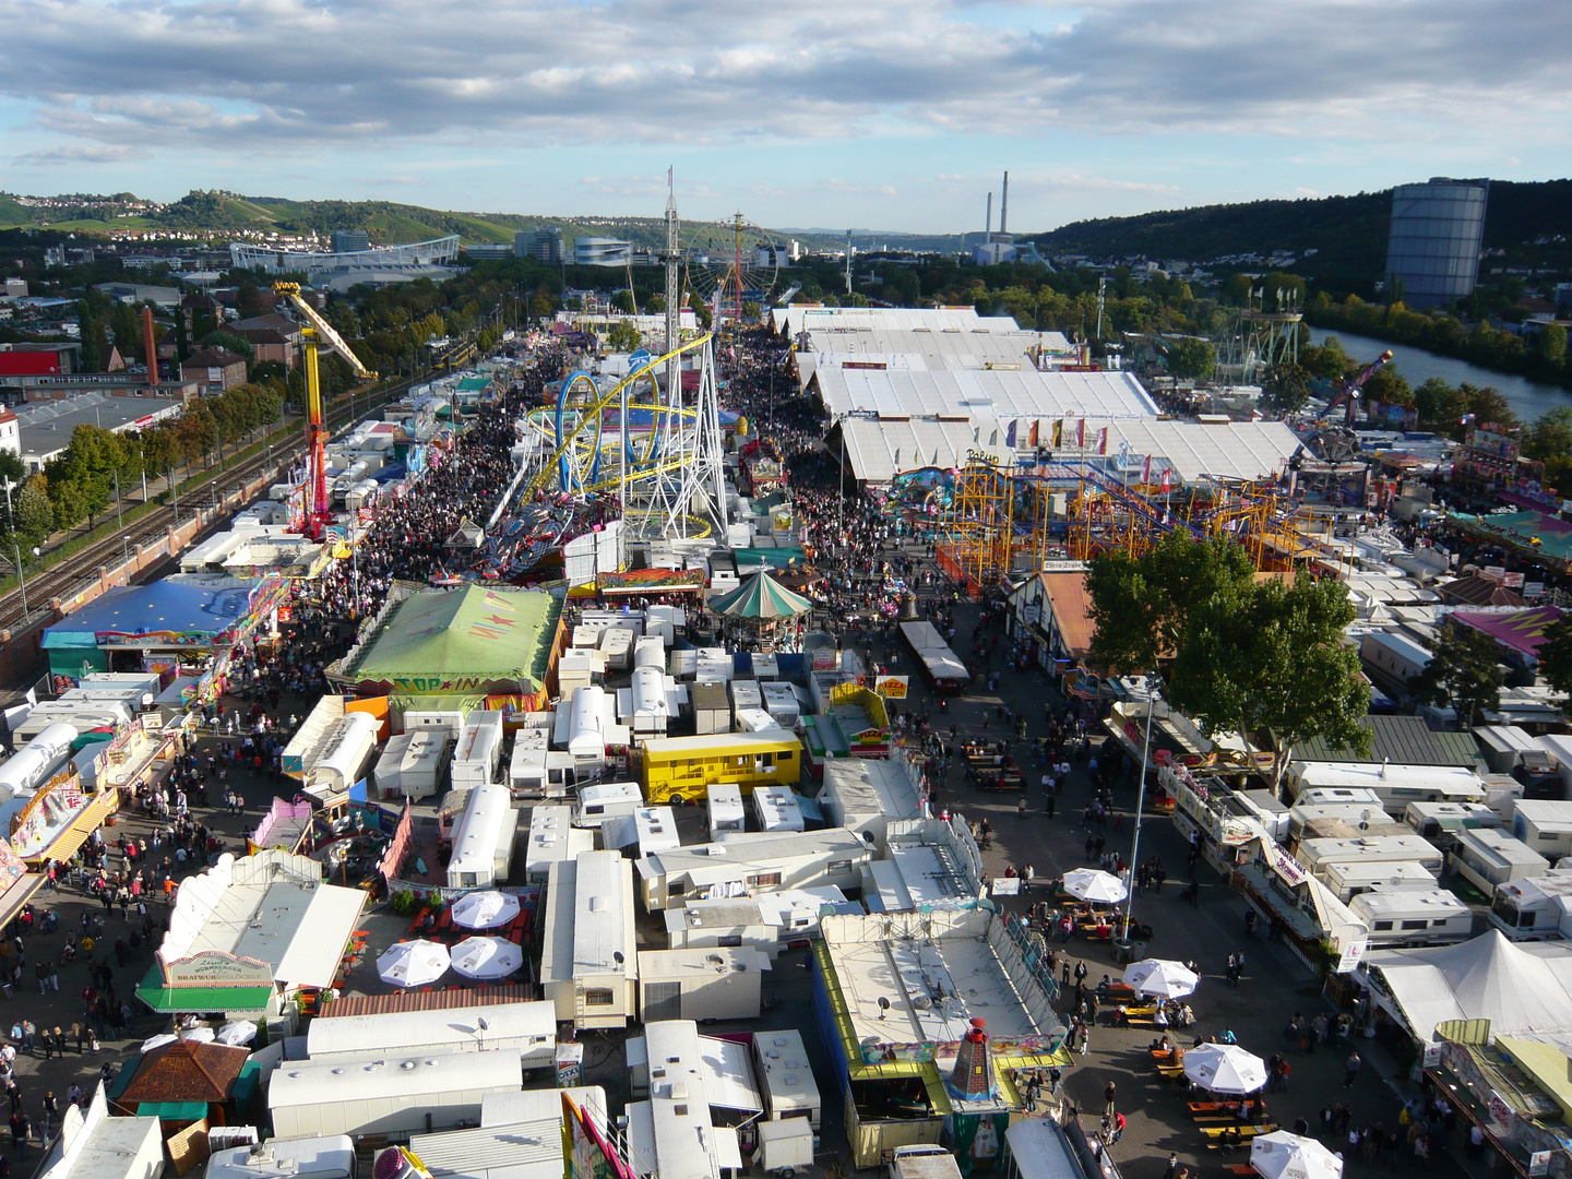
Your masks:
{"label": "tall blue-grey cylindrical gasometer tower on the hillside by the river", "polygon": [[1490,181],[1437,176],[1391,193],[1387,285],[1409,307],[1445,307],[1473,294]]}

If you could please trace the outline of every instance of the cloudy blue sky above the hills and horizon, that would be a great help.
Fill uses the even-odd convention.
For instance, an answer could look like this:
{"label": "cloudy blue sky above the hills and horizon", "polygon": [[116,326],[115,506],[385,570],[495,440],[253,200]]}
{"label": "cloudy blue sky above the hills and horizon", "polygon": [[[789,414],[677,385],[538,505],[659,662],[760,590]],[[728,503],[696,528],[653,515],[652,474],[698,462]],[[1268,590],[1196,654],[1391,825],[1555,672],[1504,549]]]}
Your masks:
{"label": "cloudy blue sky above the hills and horizon", "polygon": [[[1572,174],[1566,0],[0,0],[0,189],[962,233]],[[995,195],[995,225],[998,196]]]}

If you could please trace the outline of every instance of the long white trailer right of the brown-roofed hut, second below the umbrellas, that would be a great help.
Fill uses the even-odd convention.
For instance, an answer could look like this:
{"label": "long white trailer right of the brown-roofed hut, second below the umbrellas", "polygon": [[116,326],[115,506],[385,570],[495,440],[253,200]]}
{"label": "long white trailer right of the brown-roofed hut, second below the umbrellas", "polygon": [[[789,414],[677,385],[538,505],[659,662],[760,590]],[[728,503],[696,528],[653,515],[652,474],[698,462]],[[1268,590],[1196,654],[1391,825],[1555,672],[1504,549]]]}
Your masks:
{"label": "long white trailer right of the brown-roofed hut, second below the umbrellas", "polygon": [[396,1140],[479,1122],[487,1093],[522,1085],[511,1052],[285,1061],[269,1082],[267,1113],[277,1138],[377,1133]]}

